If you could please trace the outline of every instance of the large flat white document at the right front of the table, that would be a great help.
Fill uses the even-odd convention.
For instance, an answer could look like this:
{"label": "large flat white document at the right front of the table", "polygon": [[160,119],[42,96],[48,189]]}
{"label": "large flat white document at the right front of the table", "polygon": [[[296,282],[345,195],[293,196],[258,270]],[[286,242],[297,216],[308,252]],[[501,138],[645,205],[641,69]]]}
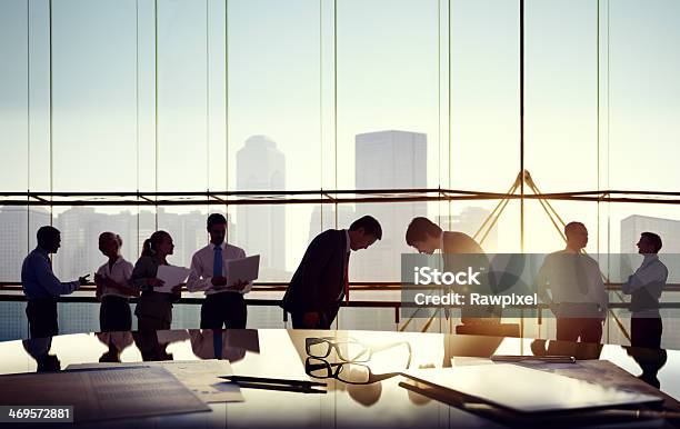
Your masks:
{"label": "large flat white document at the right front of the table", "polygon": [[661,396],[603,387],[510,363],[414,369],[403,376],[516,412],[571,411],[663,401]]}

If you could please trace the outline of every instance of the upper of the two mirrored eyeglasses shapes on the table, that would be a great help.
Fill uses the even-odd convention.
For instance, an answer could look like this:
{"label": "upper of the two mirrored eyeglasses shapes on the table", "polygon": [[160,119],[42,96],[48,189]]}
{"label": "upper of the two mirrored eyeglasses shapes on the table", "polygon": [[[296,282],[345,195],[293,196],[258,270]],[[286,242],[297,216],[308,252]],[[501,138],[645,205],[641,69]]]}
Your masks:
{"label": "upper of the two mirrored eyeglasses shapes on the table", "polygon": [[332,350],[340,360],[346,362],[368,362],[374,353],[404,346],[408,349],[408,365],[411,362],[411,345],[407,341],[392,342],[381,346],[368,346],[354,339],[331,341],[332,337],[306,338],[304,348],[311,358],[326,359]]}

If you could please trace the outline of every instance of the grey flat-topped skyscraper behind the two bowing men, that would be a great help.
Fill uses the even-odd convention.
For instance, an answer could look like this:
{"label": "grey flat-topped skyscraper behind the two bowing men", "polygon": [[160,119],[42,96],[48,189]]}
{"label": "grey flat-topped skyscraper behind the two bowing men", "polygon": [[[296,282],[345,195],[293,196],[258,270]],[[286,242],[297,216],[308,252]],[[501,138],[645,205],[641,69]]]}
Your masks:
{"label": "grey flat-topped skyscraper behind the two bowing men", "polygon": [[[427,187],[427,136],[410,131],[377,131],[356,137],[357,189],[408,189]],[[382,226],[382,240],[352,255],[352,279],[399,281],[406,229],[412,218],[427,216],[424,202],[357,204],[359,218],[371,214]]]}

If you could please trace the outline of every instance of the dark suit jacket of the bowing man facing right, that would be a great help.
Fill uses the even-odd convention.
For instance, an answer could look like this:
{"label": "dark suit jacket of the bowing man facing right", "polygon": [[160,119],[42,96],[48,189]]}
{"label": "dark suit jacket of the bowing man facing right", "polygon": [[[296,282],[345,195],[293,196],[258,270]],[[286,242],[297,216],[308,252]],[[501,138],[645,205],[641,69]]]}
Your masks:
{"label": "dark suit jacket of the bowing man facing right", "polygon": [[318,235],[304,252],[281,307],[288,312],[330,311],[344,296],[344,230]]}

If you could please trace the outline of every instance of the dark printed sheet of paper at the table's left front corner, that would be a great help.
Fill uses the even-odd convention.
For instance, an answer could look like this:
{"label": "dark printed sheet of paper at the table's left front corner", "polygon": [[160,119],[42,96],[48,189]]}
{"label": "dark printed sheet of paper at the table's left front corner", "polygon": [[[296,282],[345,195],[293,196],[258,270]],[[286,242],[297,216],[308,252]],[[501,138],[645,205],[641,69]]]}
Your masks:
{"label": "dark printed sheet of paper at the table's left front corner", "polygon": [[1,376],[0,386],[2,405],[70,405],[76,422],[210,411],[159,366]]}

